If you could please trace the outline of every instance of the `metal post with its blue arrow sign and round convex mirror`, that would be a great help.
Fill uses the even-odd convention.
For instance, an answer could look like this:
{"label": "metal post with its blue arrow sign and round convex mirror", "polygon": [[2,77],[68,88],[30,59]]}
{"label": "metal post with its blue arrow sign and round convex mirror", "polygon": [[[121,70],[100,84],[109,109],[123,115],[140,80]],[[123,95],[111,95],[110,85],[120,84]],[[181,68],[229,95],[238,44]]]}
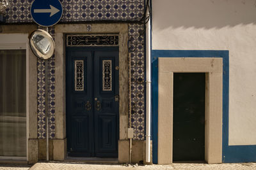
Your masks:
{"label": "metal post with its blue arrow sign and round convex mirror", "polygon": [[60,0],[35,0],[30,8],[31,17],[36,24],[46,27],[46,31],[37,30],[32,33],[30,46],[37,57],[45,60],[45,138],[46,160],[49,161],[49,61],[55,49],[54,41],[48,33],[48,27],[57,24],[63,13]]}

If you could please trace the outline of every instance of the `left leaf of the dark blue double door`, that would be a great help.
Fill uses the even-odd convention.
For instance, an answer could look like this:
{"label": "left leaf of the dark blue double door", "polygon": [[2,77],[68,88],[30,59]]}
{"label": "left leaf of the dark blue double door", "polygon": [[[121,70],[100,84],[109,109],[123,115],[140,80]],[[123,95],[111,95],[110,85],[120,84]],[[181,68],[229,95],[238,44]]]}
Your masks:
{"label": "left leaf of the dark blue double door", "polygon": [[[67,50],[67,138],[70,156],[91,156],[93,138],[92,52]],[[90,138],[88,138],[90,136]]]}

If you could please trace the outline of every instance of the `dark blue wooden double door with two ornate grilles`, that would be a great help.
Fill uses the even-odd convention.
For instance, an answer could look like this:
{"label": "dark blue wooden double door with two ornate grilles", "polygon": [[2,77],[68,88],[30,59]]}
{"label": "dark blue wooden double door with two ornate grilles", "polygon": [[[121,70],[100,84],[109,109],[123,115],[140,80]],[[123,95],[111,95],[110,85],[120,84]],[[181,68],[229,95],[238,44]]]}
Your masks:
{"label": "dark blue wooden double door with two ornate grilles", "polygon": [[66,50],[67,151],[118,157],[118,48]]}

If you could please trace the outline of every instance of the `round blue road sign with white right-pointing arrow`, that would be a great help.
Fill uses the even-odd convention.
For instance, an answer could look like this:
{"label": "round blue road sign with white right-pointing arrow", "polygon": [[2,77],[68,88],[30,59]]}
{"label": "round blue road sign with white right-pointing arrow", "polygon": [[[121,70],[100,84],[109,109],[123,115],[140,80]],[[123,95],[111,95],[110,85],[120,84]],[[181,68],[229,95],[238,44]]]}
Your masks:
{"label": "round blue road sign with white right-pointing arrow", "polygon": [[59,0],[35,0],[31,4],[31,17],[36,24],[49,27],[59,22],[62,16],[62,5]]}

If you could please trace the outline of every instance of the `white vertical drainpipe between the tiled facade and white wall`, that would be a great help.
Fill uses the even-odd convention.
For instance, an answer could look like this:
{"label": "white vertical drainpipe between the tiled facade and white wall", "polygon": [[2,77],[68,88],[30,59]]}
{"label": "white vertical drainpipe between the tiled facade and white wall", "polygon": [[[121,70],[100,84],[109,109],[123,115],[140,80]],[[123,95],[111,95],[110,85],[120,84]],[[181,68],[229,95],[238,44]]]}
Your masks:
{"label": "white vertical drainpipe between the tiled facade and white wall", "polygon": [[[150,16],[148,9],[147,15]],[[150,18],[146,24],[146,162],[150,162],[150,113],[151,113],[151,22]]]}

